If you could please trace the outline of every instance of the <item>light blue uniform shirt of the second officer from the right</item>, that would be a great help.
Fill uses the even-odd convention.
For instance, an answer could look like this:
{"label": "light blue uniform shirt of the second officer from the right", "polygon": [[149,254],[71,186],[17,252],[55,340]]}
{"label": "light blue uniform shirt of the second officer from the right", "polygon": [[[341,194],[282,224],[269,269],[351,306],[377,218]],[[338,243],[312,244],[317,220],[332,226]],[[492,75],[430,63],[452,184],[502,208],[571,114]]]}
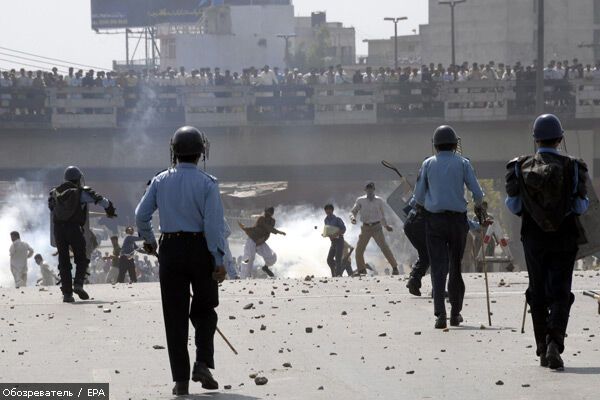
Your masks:
{"label": "light blue uniform shirt of the second officer from the right", "polygon": [[423,162],[415,201],[431,213],[466,212],[465,185],[473,193],[475,204],[480,204],[483,190],[469,160],[453,151],[440,151]]}

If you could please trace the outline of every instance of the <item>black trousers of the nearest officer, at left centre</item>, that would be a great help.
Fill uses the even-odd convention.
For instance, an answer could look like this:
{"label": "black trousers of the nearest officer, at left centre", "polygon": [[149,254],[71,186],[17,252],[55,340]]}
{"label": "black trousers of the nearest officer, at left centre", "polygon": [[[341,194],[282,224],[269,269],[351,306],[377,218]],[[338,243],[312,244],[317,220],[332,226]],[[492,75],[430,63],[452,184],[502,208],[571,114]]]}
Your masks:
{"label": "black trousers of the nearest officer, at left centre", "polygon": [[[173,381],[190,379],[189,322],[195,328],[196,361],[214,368],[219,289],[214,260],[201,234],[165,237],[160,246],[160,292]],[[190,285],[193,299],[190,307]]]}

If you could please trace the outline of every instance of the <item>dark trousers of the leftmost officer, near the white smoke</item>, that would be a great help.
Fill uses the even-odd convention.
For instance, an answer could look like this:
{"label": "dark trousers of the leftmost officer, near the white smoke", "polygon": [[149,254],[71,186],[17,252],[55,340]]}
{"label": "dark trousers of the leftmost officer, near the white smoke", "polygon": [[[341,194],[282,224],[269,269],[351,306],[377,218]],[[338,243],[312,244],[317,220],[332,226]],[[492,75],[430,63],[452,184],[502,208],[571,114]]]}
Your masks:
{"label": "dark trousers of the leftmost officer, near the white smoke", "polygon": [[61,290],[64,294],[73,293],[73,275],[71,255],[75,261],[75,284],[83,285],[85,274],[90,263],[85,254],[85,238],[81,225],[72,222],[54,223],[54,240],[58,250],[58,272],[60,274]]}

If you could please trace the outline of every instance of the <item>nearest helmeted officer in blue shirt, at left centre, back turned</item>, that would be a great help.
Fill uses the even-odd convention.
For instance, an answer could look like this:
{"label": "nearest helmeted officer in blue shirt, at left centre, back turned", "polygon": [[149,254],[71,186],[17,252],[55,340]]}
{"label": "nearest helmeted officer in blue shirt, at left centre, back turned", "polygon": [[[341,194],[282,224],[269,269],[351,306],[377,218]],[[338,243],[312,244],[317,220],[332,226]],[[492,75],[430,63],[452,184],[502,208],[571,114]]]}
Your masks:
{"label": "nearest helmeted officer in blue shirt, at left centre, back turned", "polygon": [[196,330],[192,380],[204,389],[219,388],[209,368],[215,367],[218,283],[226,274],[225,219],[217,180],[197,167],[206,150],[205,136],[196,128],[178,129],[171,139],[173,166],[152,179],[135,211],[149,253],[157,249],[152,214],[160,213],[160,289],[175,395],[189,389],[188,320]]}

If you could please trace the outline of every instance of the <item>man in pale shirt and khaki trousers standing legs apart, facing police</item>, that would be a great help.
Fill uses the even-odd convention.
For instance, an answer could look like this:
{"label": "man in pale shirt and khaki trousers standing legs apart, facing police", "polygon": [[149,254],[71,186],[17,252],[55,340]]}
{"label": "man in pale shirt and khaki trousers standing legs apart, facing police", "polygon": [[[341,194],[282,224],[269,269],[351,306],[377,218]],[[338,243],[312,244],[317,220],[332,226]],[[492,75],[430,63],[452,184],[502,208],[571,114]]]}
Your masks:
{"label": "man in pale shirt and khaki trousers standing legs apart, facing police", "polygon": [[393,275],[399,275],[398,263],[383,235],[384,227],[388,232],[393,231],[392,227],[389,226],[385,220],[383,199],[379,196],[375,196],[375,184],[373,182],[369,182],[365,186],[365,192],[366,195],[356,199],[356,203],[350,212],[350,222],[353,225],[356,224],[356,215],[359,211],[360,219],[363,223],[360,228],[358,243],[356,244],[356,274],[366,273],[365,249],[371,238],[373,238],[375,239],[377,246],[379,246],[383,252],[386,260],[392,266]]}

